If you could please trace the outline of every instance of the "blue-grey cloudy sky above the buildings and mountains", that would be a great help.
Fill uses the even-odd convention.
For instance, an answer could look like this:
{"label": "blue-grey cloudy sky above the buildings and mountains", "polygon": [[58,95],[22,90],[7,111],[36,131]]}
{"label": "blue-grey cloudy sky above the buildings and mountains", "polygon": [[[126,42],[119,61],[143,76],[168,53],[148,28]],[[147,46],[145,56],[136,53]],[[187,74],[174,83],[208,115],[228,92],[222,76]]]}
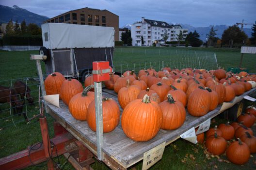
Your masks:
{"label": "blue-grey cloudy sky above the buildings and mountains", "polygon": [[17,5],[49,18],[84,7],[107,9],[119,15],[119,27],[141,17],[194,27],[256,21],[256,0],[0,0],[0,4]]}

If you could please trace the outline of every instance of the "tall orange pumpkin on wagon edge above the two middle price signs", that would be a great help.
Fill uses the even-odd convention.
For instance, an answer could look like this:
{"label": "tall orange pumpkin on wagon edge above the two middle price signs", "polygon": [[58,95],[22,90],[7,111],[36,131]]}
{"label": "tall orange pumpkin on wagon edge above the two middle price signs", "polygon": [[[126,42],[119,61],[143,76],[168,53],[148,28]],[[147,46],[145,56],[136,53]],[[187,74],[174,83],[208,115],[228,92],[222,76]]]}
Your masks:
{"label": "tall orange pumpkin on wagon edge above the two middle price signs", "polygon": [[203,116],[209,111],[210,101],[208,91],[204,87],[199,86],[189,97],[187,104],[188,112],[192,116]]}

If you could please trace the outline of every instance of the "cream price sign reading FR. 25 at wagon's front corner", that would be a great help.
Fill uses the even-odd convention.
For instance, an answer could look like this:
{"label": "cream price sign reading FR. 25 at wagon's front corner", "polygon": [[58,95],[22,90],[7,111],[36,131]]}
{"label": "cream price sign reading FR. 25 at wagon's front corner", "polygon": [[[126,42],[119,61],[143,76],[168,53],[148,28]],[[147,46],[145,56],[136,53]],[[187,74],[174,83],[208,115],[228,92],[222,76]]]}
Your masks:
{"label": "cream price sign reading FR. 25 at wagon's front corner", "polygon": [[165,142],[144,153],[142,170],[147,170],[162,158]]}

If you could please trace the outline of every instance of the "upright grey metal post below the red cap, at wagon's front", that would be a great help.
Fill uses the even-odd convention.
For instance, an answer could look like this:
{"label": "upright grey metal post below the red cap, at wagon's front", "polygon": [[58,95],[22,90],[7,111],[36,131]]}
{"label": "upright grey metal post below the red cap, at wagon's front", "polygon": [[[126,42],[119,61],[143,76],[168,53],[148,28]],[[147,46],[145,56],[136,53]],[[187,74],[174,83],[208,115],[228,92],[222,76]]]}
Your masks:
{"label": "upright grey metal post below the red cap, at wagon's front", "polygon": [[103,160],[103,116],[102,116],[102,91],[101,82],[94,82],[95,108],[96,108],[96,135],[97,135],[97,157]]}

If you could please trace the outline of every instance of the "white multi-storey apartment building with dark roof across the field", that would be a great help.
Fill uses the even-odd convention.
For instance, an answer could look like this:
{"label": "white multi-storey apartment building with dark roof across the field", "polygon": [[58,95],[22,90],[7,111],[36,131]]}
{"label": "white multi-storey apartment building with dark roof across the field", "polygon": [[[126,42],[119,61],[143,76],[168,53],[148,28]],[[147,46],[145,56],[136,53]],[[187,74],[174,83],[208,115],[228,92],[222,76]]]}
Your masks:
{"label": "white multi-storey apartment building with dark roof across the field", "polygon": [[[184,39],[188,34],[188,29],[182,29],[180,25],[170,25],[164,21],[145,19],[131,25],[132,46],[152,46],[154,42],[164,43],[164,34],[168,36],[166,41],[177,41],[176,34],[182,30]],[[142,38],[143,37],[143,38]],[[144,44],[142,44],[142,39]]]}

